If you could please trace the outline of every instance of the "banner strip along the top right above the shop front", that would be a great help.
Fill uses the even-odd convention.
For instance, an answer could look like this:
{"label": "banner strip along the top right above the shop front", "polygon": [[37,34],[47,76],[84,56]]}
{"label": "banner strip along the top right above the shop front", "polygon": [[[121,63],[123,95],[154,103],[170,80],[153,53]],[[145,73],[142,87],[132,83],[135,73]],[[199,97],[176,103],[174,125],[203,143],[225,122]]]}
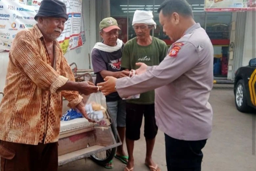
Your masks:
{"label": "banner strip along the top right above the shop front", "polygon": [[205,0],[205,11],[256,11],[256,0]]}

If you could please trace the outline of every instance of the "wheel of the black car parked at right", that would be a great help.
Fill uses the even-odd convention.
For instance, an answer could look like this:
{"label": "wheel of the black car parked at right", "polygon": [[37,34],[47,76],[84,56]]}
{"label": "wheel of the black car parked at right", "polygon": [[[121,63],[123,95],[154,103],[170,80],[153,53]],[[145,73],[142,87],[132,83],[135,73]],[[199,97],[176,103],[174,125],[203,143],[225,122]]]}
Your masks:
{"label": "wheel of the black car parked at right", "polygon": [[244,80],[239,80],[235,89],[236,108],[240,112],[250,112],[251,107],[247,105],[246,90]]}

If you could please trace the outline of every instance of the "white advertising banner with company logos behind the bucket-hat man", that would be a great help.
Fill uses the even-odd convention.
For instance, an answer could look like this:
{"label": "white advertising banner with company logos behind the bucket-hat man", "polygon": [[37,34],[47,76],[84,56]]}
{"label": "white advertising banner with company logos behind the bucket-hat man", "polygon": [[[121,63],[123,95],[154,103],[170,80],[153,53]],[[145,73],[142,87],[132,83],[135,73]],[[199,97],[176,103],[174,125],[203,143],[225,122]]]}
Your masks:
{"label": "white advertising banner with company logos behind the bucket-hat man", "polygon": [[[0,0],[0,52],[10,50],[15,35],[36,24],[37,14],[42,0]],[[82,14],[82,0],[61,0],[67,6],[68,20],[57,39],[63,53],[85,42]]]}

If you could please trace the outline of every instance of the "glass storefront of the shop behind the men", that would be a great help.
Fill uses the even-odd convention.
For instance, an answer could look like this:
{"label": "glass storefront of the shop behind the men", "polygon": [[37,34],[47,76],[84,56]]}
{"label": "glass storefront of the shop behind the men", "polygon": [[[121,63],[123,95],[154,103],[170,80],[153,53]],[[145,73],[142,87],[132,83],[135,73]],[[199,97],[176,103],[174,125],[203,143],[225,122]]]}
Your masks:
{"label": "glass storefront of the shop behind the men", "polygon": [[[156,29],[152,30],[153,36],[171,46],[173,42],[163,33],[163,27],[159,23],[158,7],[164,0],[110,0],[111,17],[117,19],[121,28],[119,39],[126,42],[136,36],[132,28],[132,19],[136,10],[153,11]],[[226,76],[228,73],[228,54],[231,12],[204,12],[204,0],[187,0],[190,4],[194,20],[200,23],[211,39],[214,46],[214,75]],[[129,2],[129,4],[128,4]]]}

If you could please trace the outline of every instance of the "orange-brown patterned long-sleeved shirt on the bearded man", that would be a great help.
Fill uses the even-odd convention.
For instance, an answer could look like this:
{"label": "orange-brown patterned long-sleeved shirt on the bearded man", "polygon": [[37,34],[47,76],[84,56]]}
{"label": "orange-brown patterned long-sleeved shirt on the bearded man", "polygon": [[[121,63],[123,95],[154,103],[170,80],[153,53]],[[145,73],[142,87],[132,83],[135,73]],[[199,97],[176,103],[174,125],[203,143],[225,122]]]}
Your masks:
{"label": "orange-brown patterned long-sleeved shirt on the bearded man", "polygon": [[37,25],[17,33],[0,103],[0,139],[33,145],[57,142],[63,96],[71,108],[82,101],[76,91],[58,90],[68,80],[74,81],[74,75],[57,40],[53,68]]}

